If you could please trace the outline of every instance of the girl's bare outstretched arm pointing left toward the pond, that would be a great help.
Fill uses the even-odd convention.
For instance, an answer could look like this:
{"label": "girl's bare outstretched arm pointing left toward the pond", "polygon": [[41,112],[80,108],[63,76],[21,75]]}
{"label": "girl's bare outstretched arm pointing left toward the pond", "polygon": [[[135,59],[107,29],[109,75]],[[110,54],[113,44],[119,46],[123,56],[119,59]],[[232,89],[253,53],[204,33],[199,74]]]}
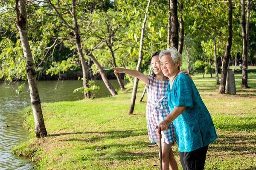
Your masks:
{"label": "girl's bare outstretched arm pointing left toward the pond", "polygon": [[137,70],[130,70],[130,69],[119,68],[119,67],[111,68],[111,69],[114,70],[114,74],[116,75],[116,77],[118,77],[118,75],[117,75],[118,73],[125,73],[125,74],[128,74],[131,77],[137,77],[138,79],[140,79],[144,83],[148,83],[148,76],[140,73]]}

